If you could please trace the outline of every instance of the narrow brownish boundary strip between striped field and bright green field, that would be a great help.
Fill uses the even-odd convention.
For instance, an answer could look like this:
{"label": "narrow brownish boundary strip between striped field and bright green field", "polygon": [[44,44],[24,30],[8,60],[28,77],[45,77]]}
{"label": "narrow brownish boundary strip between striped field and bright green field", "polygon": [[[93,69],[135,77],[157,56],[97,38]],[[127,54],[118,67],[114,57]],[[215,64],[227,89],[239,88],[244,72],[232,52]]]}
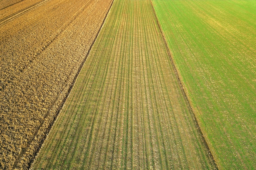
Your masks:
{"label": "narrow brownish boundary strip between striped field and bright green field", "polygon": [[208,144],[207,144],[207,142],[206,142],[206,140],[205,140],[204,134],[202,133],[202,130],[201,130],[199,124],[198,124],[198,120],[197,120],[197,118],[195,117],[195,113],[194,113],[194,111],[193,111],[193,108],[191,107],[191,103],[189,102],[189,98],[188,98],[188,96],[187,96],[187,94],[186,94],[186,92],[185,92],[185,90],[184,90],[184,86],[183,86],[183,84],[182,84],[182,81],[180,80],[179,73],[177,72],[176,66],[175,66],[175,64],[174,64],[174,61],[173,61],[173,58],[172,58],[172,55],[171,55],[171,50],[170,50],[170,48],[169,48],[168,45],[167,45],[167,41],[166,41],[166,38],[164,37],[164,33],[163,33],[163,31],[162,31],[162,28],[161,28],[161,26],[160,26],[159,20],[158,20],[158,18],[157,18],[157,15],[156,15],[156,12],[155,12],[155,9],[154,9],[152,0],[150,0],[150,4],[151,4],[151,7],[152,7],[152,9],[153,9],[153,12],[154,12],[154,15],[155,15],[155,19],[156,19],[157,25],[158,25],[158,27],[159,27],[160,33],[161,33],[162,38],[163,38],[163,40],[164,40],[164,44],[165,44],[165,46],[166,46],[166,49],[167,49],[169,58],[171,59],[171,63],[172,63],[172,65],[173,65],[173,69],[174,69],[176,78],[177,78],[177,80],[178,80],[178,82],[179,82],[180,89],[181,89],[181,91],[182,91],[182,95],[184,96],[185,101],[186,101],[186,104],[187,104],[187,107],[188,107],[188,109],[189,109],[189,111],[190,111],[190,113],[191,113],[191,116],[193,117],[193,120],[194,120],[193,122],[195,123],[195,127],[196,127],[196,129],[197,129],[197,131],[198,131],[198,133],[199,133],[199,136],[200,136],[200,138],[201,138],[201,140],[202,140],[202,142],[203,142],[203,144],[204,144],[204,146],[205,146],[205,148],[206,148],[206,150],[207,150],[207,157],[208,157],[209,160],[211,161],[211,163],[212,163],[212,165],[214,166],[214,168],[216,168],[216,169],[218,170],[218,169],[219,169],[219,168],[218,168],[218,165],[217,165],[217,163],[216,163],[216,161],[215,161],[213,155],[211,154],[211,150],[210,150],[210,148],[209,148],[209,146],[208,146]]}

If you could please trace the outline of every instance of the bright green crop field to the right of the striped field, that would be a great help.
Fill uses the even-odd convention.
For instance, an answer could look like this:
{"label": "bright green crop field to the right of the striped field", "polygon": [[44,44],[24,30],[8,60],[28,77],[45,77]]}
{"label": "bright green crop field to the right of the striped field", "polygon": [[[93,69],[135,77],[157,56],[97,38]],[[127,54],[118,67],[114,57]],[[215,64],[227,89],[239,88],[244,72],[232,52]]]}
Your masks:
{"label": "bright green crop field to the right of the striped field", "polygon": [[256,169],[256,1],[153,0],[220,169]]}

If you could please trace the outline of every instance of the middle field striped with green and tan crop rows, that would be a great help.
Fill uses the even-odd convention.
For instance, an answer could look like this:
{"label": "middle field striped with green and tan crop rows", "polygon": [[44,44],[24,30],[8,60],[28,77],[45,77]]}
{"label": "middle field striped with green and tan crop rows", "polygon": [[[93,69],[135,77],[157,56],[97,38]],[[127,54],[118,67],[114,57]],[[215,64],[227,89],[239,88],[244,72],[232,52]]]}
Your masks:
{"label": "middle field striped with green and tan crop rows", "polygon": [[115,0],[32,168],[215,169],[149,0]]}

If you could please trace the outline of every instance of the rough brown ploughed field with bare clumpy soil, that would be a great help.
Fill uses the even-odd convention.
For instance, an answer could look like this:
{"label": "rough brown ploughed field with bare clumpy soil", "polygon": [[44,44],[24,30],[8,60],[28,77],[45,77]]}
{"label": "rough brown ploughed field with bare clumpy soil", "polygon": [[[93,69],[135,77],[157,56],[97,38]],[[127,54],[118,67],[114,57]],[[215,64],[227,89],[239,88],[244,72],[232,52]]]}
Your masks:
{"label": "rough brown ploughed field with bare clumpy soil", "polygon": [[0,1],[0,169],[28,168],[111,3]]}

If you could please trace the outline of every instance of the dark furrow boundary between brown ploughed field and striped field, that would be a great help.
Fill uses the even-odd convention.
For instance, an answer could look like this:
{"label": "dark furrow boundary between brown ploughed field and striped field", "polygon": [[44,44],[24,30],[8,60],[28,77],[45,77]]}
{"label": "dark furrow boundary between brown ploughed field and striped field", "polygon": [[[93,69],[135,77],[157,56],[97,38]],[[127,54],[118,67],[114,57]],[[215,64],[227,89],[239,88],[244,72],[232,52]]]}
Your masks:
{"label": "dark furrow boundary between brown ploughed field and striped field", "polygon": [[[43,126],[45,125],[45,127],[41,126],[40,129],[41,129],[41,128],[45,128],[45,131],[41,132],[41,133],[43,133],[43,134],[38,134],[38,135],[35,136],[36,139],[41,140],[39,146],[35,148],[35,147],[34,147],[34,144],[33,144],[34,141],[32,141],[32,143],[31,143],[31,145],[29,146],[29,148],[30,148],[30,149],[31,149],[31,148],[34,148],[34,153],[33,153],[33,155],[29,155],[29,154],[28,154],[28,155],[26,155],[26,157],[23,157],[23,159],[21,159],[20,162],[18,163],[18,166],[22,166],[22,164],[24,163],[23,161],[27,161],[27,163],[28,163],[28,167],[27,167],[27,168],[29,169],[29,168],[31,167],[31,164],[32,164],[33,161],[34,161],[34,158],[36,157],[36,155],[38,154],[40,148],[42,147],[42,145],[43,145],[43,143],[44,143],[44,141],[45,141],[45,139],[46,139],[46,137],[47,137],[49,131],[51,130],[51,128],[52,128],[52,126],[53,126],[53,124],[54,124],[56,118],[58,117],[58,114],[60,113],[61,109],[63,108],[63,105],[64,105],[66,99],[68,98],[68,96],[69,96],[69,94],[70,94],[70,92],[71,92],[71,90],[72,90],[72,88],[73,88],[73,86],[74,86],[74,84],[75,84],[75,82],[76,82],[77,76],[79,75],[79,73],[80,73],[80,71],[81,71],[81,69],[82,69],[82,67],[83,67],[83,65],[84,65],[84,63],[85,63],[85,61],[86,61],[88,55],[90,54],[90,51],[91,51],[91,49],[92,49],[92,46],[94,45],[94,42],[96,41],[96,39],[97,39],[97,37],[98,37],[98,35],[99,35],[100,31],[101,31],[101,28],[102,28],[103,24],[105,23],[106,17],[108,16],[108,13],[109,13],[109,11],[110,11],[110,9],[111,9],[111,7],[112,7],[113,2],[114,2],[114,0],[112,0],[112,2],[111,2],[111,4],[110,4],[110,7],[109,7],[109,9],[108,9],[108,11],[107,11],[107,13],[106,13],[104,19],[103,19],[103,22],[102,22],[100,28],[99,28],[99,31],[97,32],[97,34],[96,34],[94,40],[92,41],[92,44],[90,45],[90,48],[89,48],[87,54],[85,55],[85,58],[83,59],[83,61],[81,62],[81,65],[79,66],[78,72],[75,74],[74,79],[73,79],[73,81],[72,81],[72,83],[71,83],[69,89],[67,90],[67,94],[65,94],[63,100],[60,101],[60,105],[59,105],[59,106],[56,106],[56,105],[55,105],[55,107],[58,107],[58,108],[56,108],[56,113],[54,114],[54,116],[53,116],[53,117],[51,117],[50,115],[48,116],[48,119],[53,119],[53,120],[52,120],[52,121],[49,121],[49,122],[47,122],[47,121],[43,122]],[[57,100],[56,102],[58,102],[58,100]],[[51,109],[51,110],[52,110],[52,109]],[[47,127],[47,126],[48,126],[48,127]],[[14,167],[14,168],[15,168],[15,167]]]}

